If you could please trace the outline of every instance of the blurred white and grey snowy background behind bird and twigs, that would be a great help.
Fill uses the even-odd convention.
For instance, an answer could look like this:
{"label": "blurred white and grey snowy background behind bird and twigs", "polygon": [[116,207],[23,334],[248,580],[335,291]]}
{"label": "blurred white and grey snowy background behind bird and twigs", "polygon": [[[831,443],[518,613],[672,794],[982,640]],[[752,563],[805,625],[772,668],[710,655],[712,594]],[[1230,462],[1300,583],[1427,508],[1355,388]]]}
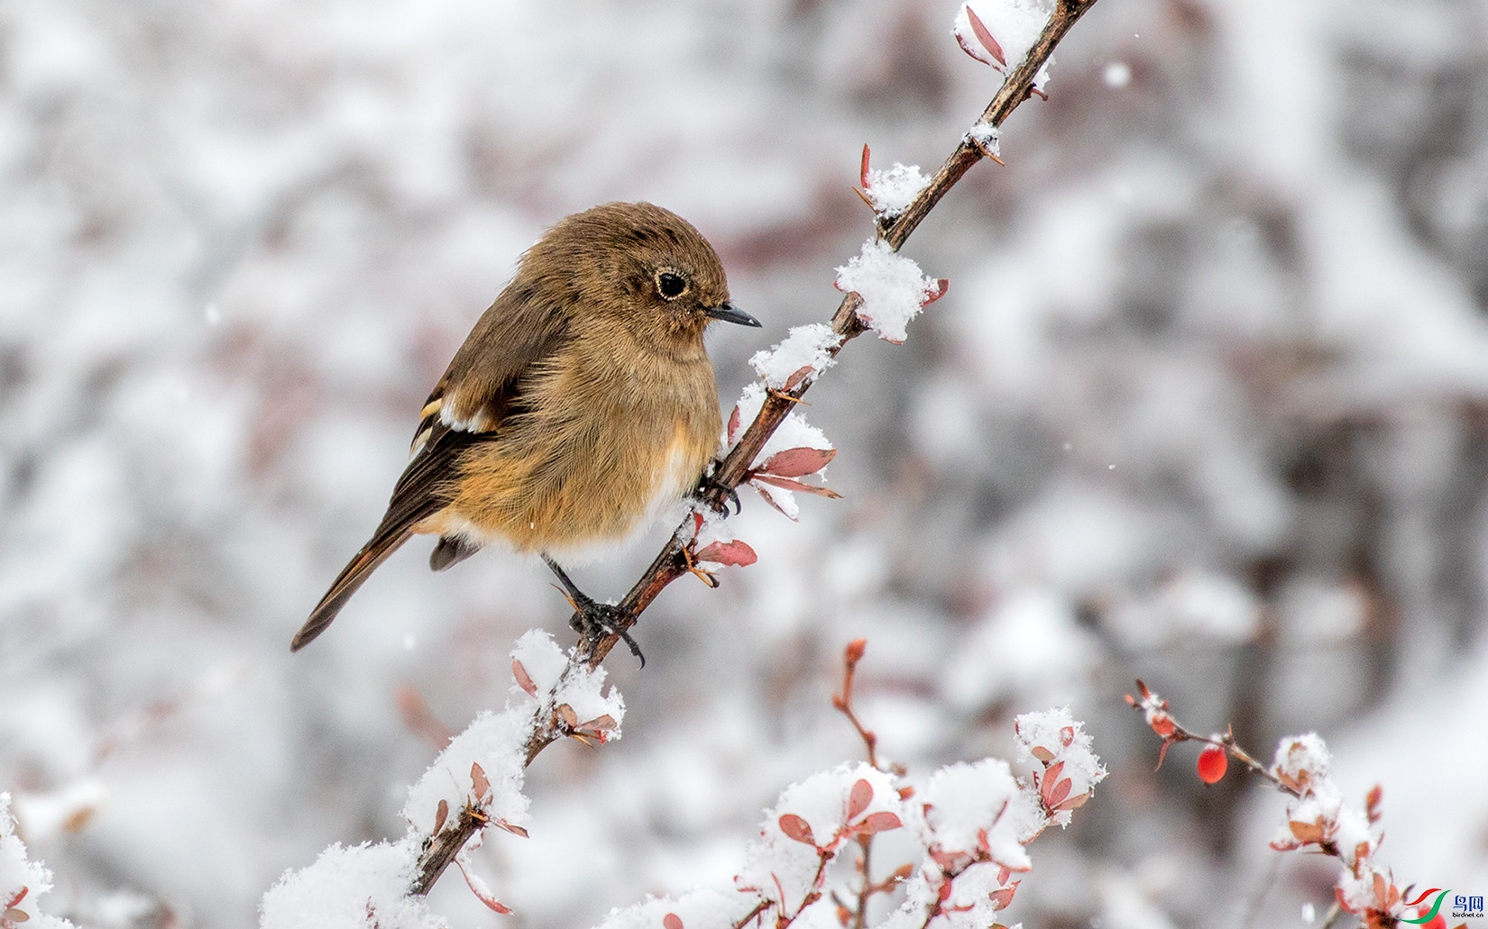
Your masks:
{"label": "blurred white and grey snowy background behind bird and twigs", "polygon": [[[997,76],[952,0],[0,3],[0,791],[86,926],[256,923],[333,841],[403,832],[440,727],[500,706],[539,563],[415,543],[287,644],[382,513],[516,256],[650,199],[765,330],[836,306],[875,164],[931,169]],[[543,754],[531,838],[457,926],[589,926],[728,883],[760,810],[862,746],[1012,758],[1070,703],[1112,770],[1009,922],[1301,925],[1335,868],[1204,788],[1146,678],[1269,757],[1318,730],[1402,884],[1488,889],[1488,3],[1101,0],[1052,100],[906,248],[949,294],[811,392],[841,453],[759,551],[610,660],[622,742]],[[577,572],[618,596],[656,538]]]}

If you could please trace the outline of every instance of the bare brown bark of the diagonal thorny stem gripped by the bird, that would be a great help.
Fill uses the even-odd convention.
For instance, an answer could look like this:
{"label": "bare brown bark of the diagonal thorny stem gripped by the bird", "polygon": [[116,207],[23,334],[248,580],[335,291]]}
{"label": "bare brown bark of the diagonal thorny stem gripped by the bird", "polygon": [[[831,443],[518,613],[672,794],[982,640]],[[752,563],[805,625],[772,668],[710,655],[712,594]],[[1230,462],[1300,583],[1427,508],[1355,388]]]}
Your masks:
{"label": "bare brown bark of the diagonal thorny stem gripped by the bird", "polygon": [[[1054,48],[1059,45],[1059,40],[1070,31],[1070,27],[1073,27],[1074,22],[1085,15],[1085,10],[1094,4],[1095,0],[1058,0],[1055,3],[1054,13],[1049,16],[1049,24],[1045,25],[1039,40],[1034,42],[1031,49],[1028,49],[1028,55],[1024,58],[1024,62],[1013,68],[1012,73],[1007,74],[1006,80],[1003,80],[1003,86],[997,91],[997,95],[992,97],[992,101],[987,104],[987,109],[982,111],[978,122],[1000,126],[1003,125],[1003,120],[1007,119],[1015,109],[1018,109],[1018,104],[1033,95],[1033,80],[1039,73],[1039,68],[1042,68],[1049,59],[1049,55],[1054,54]],[[982,149],[970,137],[963,137],[961,144],[958,144],[951,156],[945,159],[940,169],[934,172],[933,178],[930,178],[930,184],[920,192],[909,207],[894,217],[891,223],[885,224],[879,220],[878,238],[888,242],[894,251],[899,251],[899,248],[903,247],[905,241],[909,238],[909,233],[912,233],[920,226],[921,220],[924,220],[926,216],[934,210],[934,205],[940,202],[940,198],[943,198],[946,192],[958,180],[961,180],[961,175],[970,171],[972,165],[985,156],[987,155]],[[842,351],[842,346],[851,339],[856,339],[866,331],[866,327],[857,318],[859,306],[862,306],[862,299],[857,294],[850,293],[842,297],[842,303],[832,315],[832,330],[842,337],[842,342],[836,348],[830,349],[833,357],[836,357],[836,354]],[[740,437],[738,444],[729,449],[729,453],[714,471],[714,486],[710,486],[701,493],[704,504],[714,508],[722,507],[726,496],[723,488],[732,489],[744,483],[750,467],[754,464],[754,458],[759,455],[759,450],[765,447],[765,443],[775,433],[775,428],[780,427],[781,421],[786,419],[786,415],[790,413],[790,409],[798,400],[801,400],[809,386],[811,379],[808,378],[805,382],[789,391],[771,391],[766,394],[765,404],[760,407],[754,422],[751,422],[748,430],[744,431],[744,436]],[[661,550],[661,554],[658,554],[650,563],[650,568],[646,569],[646,574],[641,575],[641,580],[637,581],[635,586],[631,587],[631,592],[625,595],[625,599],[620,601],[619,606],[622,606],[628,614],[628,620],[622,623],[623,629],[629,629],[635,624],[635,618],[640,617],[641,611],[644,611],[652,601],[656,599],[667,584],[673,583],[683,574],[687,574],[687,563],[683,556],[683,548],[686,547],[686,543],[683,541],[684,537],[684,529],[679,529],[679,532],[676,532]],[[616,630],[601,639],[588,654],[580,653],[577,656],[577,663],[588,667],[598,667],[600,663],[604,661],[604,656],[607,656],[619,641],[619,632],[620,630]],[[580,648],[583,648],[582,644]],[[574,664],[570,664],[568,670],[574,667]],[[565,670],[564,675],[567,675],[568,670]],[[527,764],[531,764],[539,752],[565,734],[564,724],[558,718],[555,708],[551,703],[545,703],[539,708],[533,736],[527,742]],[[458,816],[452,816],[451,820],[439,829],[439,832],[429,837],[429,840],[426,840],[424,850],[418,858],[418,875],[414,880],[411,892],[415,895],[429,893],[429,890],[434,886],[434,881],[439,880],[439,875],[449,867],[449,862],[455,859],[455,855],[458,855],[470,837],[485,828],[488,822],[490,819],[481,813],[478,807],[467,803],[464,809],[460,810]]]}

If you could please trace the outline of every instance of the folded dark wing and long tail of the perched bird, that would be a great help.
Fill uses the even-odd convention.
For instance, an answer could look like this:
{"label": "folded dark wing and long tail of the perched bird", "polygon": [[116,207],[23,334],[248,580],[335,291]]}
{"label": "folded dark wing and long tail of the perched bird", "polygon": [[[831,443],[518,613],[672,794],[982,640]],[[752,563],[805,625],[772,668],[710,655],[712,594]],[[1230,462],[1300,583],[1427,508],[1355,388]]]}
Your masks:
{"label": "folded dark wing and long tail of the perched bird", "polygon": [[[567,339],[565,314],[509,285],[481,317],[424,404],[414,456],[393,488],[387,513],[371,541],[330,584],[295,636],[298,651],[330,626],[366,578],[443,508],[442,486],[457,476],[460,453],[496,441],[501,421],[522,406],[531,367]],[[448,557],[442,566],[452,560]]]}

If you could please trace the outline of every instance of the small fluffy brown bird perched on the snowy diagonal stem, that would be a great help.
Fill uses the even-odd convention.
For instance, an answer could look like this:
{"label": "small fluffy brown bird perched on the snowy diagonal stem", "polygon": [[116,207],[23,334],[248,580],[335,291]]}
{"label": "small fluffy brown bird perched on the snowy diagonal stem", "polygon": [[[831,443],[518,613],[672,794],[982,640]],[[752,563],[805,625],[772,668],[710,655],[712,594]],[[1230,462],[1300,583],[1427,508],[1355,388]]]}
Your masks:
{"label": "small fluffy brown bird perched on the snowy diagonal stem", "polygon": [[696,486],[722,430],[713,320],[759,326],[680,216],[604,204],[549,229],[434,385],[387,514],[290,650],[415,534],[439,537],[434,571],[491,543],[540,554],[585,632],[607,632],[607,608],[554,559],[625,538]]}

